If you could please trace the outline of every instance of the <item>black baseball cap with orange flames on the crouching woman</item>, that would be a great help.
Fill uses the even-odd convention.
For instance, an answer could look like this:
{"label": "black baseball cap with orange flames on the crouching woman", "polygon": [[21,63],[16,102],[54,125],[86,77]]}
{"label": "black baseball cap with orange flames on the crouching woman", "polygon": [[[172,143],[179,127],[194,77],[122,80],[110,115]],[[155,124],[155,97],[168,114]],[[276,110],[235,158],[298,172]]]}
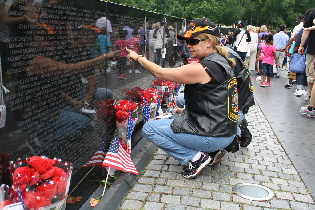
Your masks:
{"label": "black baseball cap with orange flames on the crouching woman", "polygon": [[176,35],[179,40],[195,37],[201,33],[208,33],[219,37],[219,28],[215,23],[208,18],[196,18],[190,22],[187,31],[181,32]]}

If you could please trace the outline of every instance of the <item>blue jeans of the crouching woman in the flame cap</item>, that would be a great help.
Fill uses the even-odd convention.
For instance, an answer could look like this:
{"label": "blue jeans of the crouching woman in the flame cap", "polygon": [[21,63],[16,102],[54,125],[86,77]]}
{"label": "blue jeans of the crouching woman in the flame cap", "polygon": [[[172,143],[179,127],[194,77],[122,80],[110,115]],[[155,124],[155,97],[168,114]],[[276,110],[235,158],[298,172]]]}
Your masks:
{"label": "blue jeans of the crouching woman in the flame cap", "polygon": [[171,123],[174,119],[154,120],[144,124],[143,136],[160,147],[167,154],[184,165],[197,155],[198,151],[214,152],[231,144],[235,135],[229,137],[198,136],[174,133]]}

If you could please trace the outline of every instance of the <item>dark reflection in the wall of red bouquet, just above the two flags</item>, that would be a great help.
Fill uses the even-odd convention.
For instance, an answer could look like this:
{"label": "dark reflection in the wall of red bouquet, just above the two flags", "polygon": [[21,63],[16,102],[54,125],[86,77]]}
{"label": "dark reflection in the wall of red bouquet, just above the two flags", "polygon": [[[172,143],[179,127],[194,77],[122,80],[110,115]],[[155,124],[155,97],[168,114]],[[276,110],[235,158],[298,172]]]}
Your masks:
{"label": "dark reflection in the wall of red bouquet, just above the two flags", "polygon": [[114,136],[116,129],[114,103],[114,99],[106,99],[95,103],[100,139],[104,137],[111,139]]}

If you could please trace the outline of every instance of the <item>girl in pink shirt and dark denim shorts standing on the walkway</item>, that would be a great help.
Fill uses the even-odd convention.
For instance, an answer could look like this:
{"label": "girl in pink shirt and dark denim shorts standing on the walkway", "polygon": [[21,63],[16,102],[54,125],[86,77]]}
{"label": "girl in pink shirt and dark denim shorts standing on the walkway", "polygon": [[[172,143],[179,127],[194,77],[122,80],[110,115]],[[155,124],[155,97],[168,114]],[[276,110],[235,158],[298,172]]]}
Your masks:
{"label": "girl in pink shirt and dark denim shorts standing on the walkway", "polygon": [[[270,77],[273,73],[273,59],[276,60],[277,65],[280,67],[278,58],[276,56],[276,48],[273,46],[273,36],[268,34],[266,38],[266,46],[263,46],[261,52],[264,54],[262,59],[262,82],[260,87],[270,87]],[[266,82],[267,77],[267,82]]]}

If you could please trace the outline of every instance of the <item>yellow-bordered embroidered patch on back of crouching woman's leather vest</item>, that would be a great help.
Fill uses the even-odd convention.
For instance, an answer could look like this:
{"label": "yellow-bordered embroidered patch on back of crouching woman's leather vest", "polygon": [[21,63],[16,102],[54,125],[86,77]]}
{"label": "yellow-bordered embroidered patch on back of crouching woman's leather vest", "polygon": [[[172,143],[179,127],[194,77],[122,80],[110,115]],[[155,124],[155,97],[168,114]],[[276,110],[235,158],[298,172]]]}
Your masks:
{"label": "yellow-bordered embroidered patch on back of crouching woman's leather vest", "polygon": [[229,119],[233,122],[238,122],[238,93],[237,93],[237,85],[236,78],[233,77],[228,82],[229,87],[229,103],[228,103],[228,112]]}

